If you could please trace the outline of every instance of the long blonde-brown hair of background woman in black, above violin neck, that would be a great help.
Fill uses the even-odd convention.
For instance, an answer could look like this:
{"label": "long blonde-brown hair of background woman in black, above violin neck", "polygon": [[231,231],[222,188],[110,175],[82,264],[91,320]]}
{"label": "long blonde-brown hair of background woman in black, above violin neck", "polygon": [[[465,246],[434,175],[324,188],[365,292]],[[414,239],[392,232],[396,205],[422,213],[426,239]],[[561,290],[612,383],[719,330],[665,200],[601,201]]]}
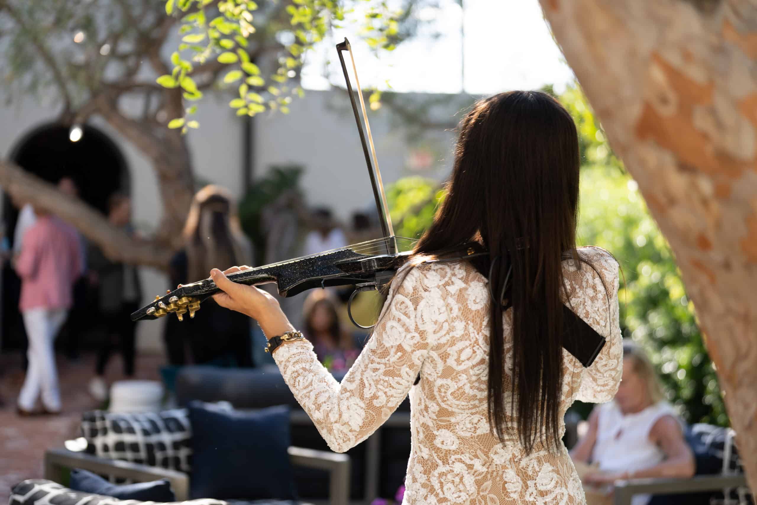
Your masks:
{"label": "long blonde-brown hair of background woman in black, above violin neck", "polygon": [[212,268],[252,263],[252,246],[241,231],[233,198],[218,185],[207,185],[192,199],[184,226],[188,281],[205,279]]}

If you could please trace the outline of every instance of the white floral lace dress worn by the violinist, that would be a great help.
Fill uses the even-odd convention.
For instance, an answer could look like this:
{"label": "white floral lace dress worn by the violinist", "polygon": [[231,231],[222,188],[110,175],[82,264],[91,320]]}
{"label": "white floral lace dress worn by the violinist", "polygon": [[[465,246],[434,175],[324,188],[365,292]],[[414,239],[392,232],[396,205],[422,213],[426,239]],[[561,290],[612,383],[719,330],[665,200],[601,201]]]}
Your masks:
{"label": "white floral lace dress worn by the violinist", "polygon": [[[607,344],[588,369],[563,351],[561,433],[562,416],[573,401],[611,400],[622,373],[618,264],[600,248],[578,251],[599,275],[586,264],[577,270],[572,260],[563,262],[572,308]],[[537,446],[525,454],[515,433],[506,444],[491,434],[487,279],[464,261],[425,264],[411,270],[402,285],[392,286],[388,300],[341,384],[319,363],[308,341],[282,344],[273,354],[329,447],[344,452],[360,444],[409,393],[412,447],[403,503],[584,503],[562,444],[557,452]],[[504,314],[506,373],[512,369],[510,312]],[[421,380],[413,385],[419,373]]]}

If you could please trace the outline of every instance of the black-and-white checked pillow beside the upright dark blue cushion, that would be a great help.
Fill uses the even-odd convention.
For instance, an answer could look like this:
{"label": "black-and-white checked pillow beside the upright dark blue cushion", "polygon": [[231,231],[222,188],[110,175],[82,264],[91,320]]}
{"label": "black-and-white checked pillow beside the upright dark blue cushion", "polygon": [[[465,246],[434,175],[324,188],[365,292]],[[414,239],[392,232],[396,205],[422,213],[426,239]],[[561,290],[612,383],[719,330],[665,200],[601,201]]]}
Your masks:
{"label": "black-and-white checked pillow beside the upright dark blue cushion", "polygon": [[86,452],[108,460],[191,469],[192,426],[186,409],[145,413],[92,410],[82,416]]}

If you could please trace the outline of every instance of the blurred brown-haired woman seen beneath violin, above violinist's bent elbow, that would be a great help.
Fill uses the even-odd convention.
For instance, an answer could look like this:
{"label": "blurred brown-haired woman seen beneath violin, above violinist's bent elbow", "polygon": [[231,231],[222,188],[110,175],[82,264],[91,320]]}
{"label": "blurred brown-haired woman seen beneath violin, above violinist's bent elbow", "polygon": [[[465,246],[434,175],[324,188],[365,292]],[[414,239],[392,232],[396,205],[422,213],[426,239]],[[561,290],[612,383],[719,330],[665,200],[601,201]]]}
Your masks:
{"label": "blurred brown-haired woman seen beneath violin, above violinist's bent elbow", "polygon": [[339,321],[337,301],[330,291],[319,289],[304,304],[304,335],[313,342],[318,360],[331,372],[346,372],[360,351]]}

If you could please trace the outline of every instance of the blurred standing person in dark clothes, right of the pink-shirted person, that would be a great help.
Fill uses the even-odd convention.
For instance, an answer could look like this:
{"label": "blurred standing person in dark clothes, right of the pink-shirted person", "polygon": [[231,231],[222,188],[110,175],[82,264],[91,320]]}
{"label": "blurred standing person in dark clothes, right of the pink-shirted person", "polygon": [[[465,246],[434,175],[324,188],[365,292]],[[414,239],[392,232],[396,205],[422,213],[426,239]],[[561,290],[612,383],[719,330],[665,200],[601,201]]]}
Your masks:
{"label": "blurred standing person in dark clothes, right of the pink-shirted person", "polygon": [[[131,199],[123,193],[116,193],[107,202],[107,219],[117,228],[123,229],[135,240],[131,225]],[[117,346],[123,357],[123,373],[127,377],[134,376],[135,332],[136,322],[129,317],[139,309],[142,301],[142,285],[136,267],[118,261],[111,261],[100,248],[92,248],[89,253],[90,274],[92,285],[98,288],[100,313],[105,326],[105,335],[98,351],[95,377],[89,383],[89,393],[98,401],[107,397],[105,383],[105,366],[111,357],[114,346]]]}

